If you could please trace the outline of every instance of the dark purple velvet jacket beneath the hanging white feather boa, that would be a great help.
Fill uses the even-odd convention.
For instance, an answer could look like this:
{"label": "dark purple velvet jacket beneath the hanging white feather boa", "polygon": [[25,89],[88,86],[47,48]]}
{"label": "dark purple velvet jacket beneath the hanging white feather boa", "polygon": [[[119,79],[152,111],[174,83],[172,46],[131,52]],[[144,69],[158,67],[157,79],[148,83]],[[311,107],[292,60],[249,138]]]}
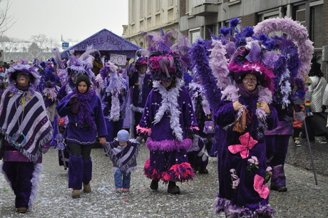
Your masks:
{"label": "dark purple velvet jacket beneath the hanging white feather boa", "polygon": [[[148,95],[139,125],[141,128],[151,128],[150,140],[176,140],[175,135],[173,135],[173,130],[170,128],[170,113],[166,112],[160,122],[156,124],[153,123],[155,115],[160,109],[160,105],[162,105],[161,94],[156,88],[153,88]],[[183,139],[185,139],[190,128],[198,126],[198,124],[195,120],[195,113],[190,95],[184,86],[181,87],[178,94],[178,110],[180,111],[180,115],[175,119],[178,120],[180,128],[183,130]]]}

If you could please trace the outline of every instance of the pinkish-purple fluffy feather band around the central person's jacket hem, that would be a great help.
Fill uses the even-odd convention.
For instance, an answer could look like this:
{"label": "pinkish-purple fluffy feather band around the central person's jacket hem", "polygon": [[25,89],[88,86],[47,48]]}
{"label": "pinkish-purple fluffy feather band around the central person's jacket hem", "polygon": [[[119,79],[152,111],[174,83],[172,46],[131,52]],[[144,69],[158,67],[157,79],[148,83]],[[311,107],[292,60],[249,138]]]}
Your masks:
{"label": "pinkish-purple fluffy feather band around the central person's jacket hem", "polygon": [[185,138],[182,141],[178,140],[162,140],[162,141],[153,141],[151,137],[148,137],[145,146],[150,151],[154,150],[165,150],[167,152],[171,152],[173,150],[188,150],[193,144],[190,138]]}

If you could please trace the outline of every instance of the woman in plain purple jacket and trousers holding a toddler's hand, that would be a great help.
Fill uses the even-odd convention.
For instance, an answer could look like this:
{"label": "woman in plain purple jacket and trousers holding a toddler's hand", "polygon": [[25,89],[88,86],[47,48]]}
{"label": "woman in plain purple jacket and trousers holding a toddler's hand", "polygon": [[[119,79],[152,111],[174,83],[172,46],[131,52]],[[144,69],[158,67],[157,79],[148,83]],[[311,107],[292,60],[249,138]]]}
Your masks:
{"label": "woman in plain purple jacket and trousers holding a toddler's hand", "polygon": [[101,144],[106,143],[106,123],[103,118],[101,100],[86,75],[78,76],[76,88],[57,105],[58,115],[68,115],[69,123],[64,137],[71,150],[68,164],[68,187],[72,197],[80,197],[80,190],[91,192],[92,177],[91,148],[98,135]]}

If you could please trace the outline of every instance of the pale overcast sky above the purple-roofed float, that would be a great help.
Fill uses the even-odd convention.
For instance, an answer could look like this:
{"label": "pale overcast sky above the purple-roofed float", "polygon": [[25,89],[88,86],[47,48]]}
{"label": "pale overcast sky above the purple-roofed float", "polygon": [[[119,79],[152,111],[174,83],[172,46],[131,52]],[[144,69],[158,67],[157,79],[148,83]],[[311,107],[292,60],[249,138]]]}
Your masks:
{"label": "pale overcast sky above the purple-roofed float", "polygon": [[45,34],[61,41],[83,41],[103,28],[122,36],[128,24],[128,0],[9,0],[16,23],[9,38],[29,41]]}

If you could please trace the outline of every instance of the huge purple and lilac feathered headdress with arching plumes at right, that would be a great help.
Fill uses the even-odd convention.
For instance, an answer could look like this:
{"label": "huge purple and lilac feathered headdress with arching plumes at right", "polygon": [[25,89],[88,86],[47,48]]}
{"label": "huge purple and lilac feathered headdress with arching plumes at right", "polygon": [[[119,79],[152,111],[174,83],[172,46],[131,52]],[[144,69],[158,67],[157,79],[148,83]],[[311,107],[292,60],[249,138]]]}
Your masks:
{"label": "huge purple and lilac feathered headdress with arching plumes at right", "polygon": [[267,19],[254,28],[238,29],[239,22],[232,19],[230,27],[223,27],[219,36],[212,36],[212,48],[199,40],[190,52],[193,66],[198,72],[205,72],[202,83],[211,108],[217,108],[215,99],[227,93],[225,90],[233,82],[239,82],[245,73],[254,73],[284,109],[290,103],[290,84],[295,78],[304,79],[309,72],[313,46],[307,28],[287,17]]}

